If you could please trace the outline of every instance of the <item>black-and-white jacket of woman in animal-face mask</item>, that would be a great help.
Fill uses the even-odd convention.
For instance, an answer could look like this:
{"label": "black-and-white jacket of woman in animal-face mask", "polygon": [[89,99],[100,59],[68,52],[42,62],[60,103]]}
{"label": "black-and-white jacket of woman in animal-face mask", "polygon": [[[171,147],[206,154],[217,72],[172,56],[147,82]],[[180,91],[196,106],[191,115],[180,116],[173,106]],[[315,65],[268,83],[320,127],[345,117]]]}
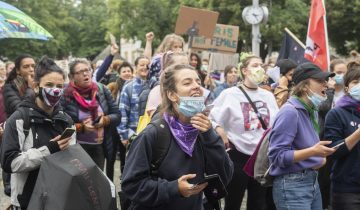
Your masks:
{"label": "black-and-white jacket of woman in animal-face mask", "polygon": [[[42,160],[60,151],[57,143],[50,140],[60,135],[66,127],[73,126],[70,116],[60,106],[50,116],[34,101],[24,100],[6,121],[0,153],[3,170],[12,173],[12,204],[22,209],[29,203]],[[20,109],[24,109],[23,113],[27,113],[28,118]],[[24,132],[26,119],[30,121],[27,134]],[[75,136],[72,143],[75,143]]]}

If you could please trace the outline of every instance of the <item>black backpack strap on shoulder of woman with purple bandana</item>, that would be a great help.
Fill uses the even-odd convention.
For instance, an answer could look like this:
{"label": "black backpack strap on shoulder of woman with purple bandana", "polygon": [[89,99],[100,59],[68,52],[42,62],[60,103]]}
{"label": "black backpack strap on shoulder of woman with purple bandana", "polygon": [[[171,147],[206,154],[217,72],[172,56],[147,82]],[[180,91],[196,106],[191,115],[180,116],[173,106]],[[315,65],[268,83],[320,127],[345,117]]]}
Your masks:
{"label": "black backpack strap on shoulder of woman with purple bandana", "polygon": [[158,169],[169,152],[171,133],[169,125],[162,118],[156,119],[150,122],[150,124],[153,124],[157,131],[157,138],[154,142],[155,144],[152,145],[150,170],[152,175],[157,176]]}

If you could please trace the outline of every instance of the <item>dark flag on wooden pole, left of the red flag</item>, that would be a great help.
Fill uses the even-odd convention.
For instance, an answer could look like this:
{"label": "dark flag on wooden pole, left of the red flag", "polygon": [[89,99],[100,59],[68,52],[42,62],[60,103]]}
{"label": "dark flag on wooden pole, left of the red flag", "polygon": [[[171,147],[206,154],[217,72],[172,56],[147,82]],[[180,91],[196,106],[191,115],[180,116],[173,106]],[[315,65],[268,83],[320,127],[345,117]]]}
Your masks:
{"label": "dark flag on wooden pole, left of the red flag", "polygon": [[278,60],[291,59],[298,65],[309,62],[304,58],[305,48],[302,46],[304,44],[301,43],[301,45],[299,41],[293,37],[294,35],[290,35],[289,33],[291,32],[285,29],[285,35],[282,41]]}

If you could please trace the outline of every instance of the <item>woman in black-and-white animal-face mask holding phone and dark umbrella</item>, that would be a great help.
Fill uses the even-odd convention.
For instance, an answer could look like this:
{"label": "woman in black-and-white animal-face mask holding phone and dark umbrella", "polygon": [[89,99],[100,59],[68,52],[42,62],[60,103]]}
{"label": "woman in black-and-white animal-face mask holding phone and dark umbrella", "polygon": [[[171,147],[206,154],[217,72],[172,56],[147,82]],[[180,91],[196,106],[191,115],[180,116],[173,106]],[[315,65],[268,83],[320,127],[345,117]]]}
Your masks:
{"label": "woman in black-and-white animal-face mask holding phone and dark umbrella", "polygon": [[62,69],[42,58],[35,71],[35,97],[21,102],[6,121],[0,155],[3,170],[12,173],[11,209],[27,208],[44,157],[75,143],[74,136],[60,138],[73,126],[59,106],[64,81]]}

